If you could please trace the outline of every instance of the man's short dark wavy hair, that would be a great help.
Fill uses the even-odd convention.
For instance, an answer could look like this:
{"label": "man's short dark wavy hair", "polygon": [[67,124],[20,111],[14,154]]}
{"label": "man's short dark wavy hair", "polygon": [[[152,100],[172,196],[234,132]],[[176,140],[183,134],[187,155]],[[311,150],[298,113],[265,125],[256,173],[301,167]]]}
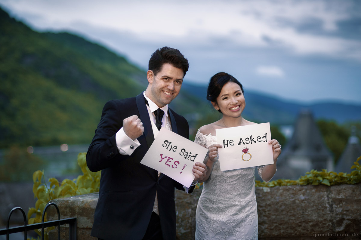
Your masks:
{"label": "man's short dark wavy hair", "polygon": [[[163,64],[170,64],[173,67],[177,67],[183,70],[184,76],[186,75],[189,64],[187,58],[183,56],[178,49],[170,47],[158,48],[149,59],[148,69],[152,70],[154,75],[162,69]],[[183,76],[183,77],[184,77]]]}

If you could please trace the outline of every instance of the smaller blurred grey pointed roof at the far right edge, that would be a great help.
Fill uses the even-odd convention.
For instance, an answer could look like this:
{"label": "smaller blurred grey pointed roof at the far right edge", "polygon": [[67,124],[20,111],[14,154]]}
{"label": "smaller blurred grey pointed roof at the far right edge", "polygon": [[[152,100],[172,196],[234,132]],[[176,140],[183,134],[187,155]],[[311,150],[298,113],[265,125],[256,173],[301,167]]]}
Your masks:
{"label": "smaller blurred grey pointed roof at the far right edge", "polygon": [[351,166],[356,162],[357,158],[361,156],[361,144],[360,140],[356,136],[356,127],[353,126],[351,130],[351,136],[348,139],[348,143],[342,153],[340,159],[337,162],[335,171],[337,173],[351,173],[353,169]]}

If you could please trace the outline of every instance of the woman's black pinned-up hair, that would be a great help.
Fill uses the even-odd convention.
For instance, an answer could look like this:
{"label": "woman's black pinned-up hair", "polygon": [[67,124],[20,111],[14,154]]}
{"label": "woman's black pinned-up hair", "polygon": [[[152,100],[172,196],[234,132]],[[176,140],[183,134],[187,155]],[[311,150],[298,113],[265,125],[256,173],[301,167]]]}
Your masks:
{"label": "woman's black pinned-up hair", "polygon": [[[228,82],[234,82],[237,83],[241,90],[243,92],[243,86],[240,82],[238,82],[237,79],[235,79],[232,75],[225,73],[225,72],[219,72],[213,75],[212,78],[209,79],[209,84],[207,88],[207,100],[211,102],[217,103],[217,97],[222,91],[223,86]],[[219,109],[218,112],[222,113]]]}

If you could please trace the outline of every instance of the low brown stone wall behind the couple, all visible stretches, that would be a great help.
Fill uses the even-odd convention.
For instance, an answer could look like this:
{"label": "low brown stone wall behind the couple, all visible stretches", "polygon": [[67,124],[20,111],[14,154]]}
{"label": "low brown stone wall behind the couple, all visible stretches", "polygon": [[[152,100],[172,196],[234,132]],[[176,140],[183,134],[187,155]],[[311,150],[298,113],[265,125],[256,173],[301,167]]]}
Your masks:
{"label": "low brown stone wall behind the couple, all visible stretches", "polygon": [[[201,190],[175,193],[177,239],[194,239]],[[256,197],[259,239],[361,239],[361,184],[258,187]],[[77,217],[78,240],[96,240],[90,231],[97,199],[98,194],[91,193],[53,200],[61,218]],[[50,207],[48,219],[55,216]],[[66,227],[61,227],[61,234],[62,239],[68,236]],[[57,233],[51,232],[49,239],[57,239]]]}

